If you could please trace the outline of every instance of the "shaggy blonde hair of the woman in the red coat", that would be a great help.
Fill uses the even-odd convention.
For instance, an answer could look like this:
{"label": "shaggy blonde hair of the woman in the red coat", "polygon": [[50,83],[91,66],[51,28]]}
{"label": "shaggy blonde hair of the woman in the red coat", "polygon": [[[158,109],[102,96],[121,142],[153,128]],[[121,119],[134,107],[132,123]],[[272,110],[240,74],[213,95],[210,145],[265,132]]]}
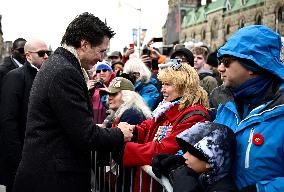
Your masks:
{"label": "shaggy blonde hair of the woman in the red coat", "polygon": [[209,109],[207,92],[199,85],[199,76],[196,70],[182,63],[177,70],[167,67],[159,71],[158,79],[163,83],[172,84],[181,96],[179,110],[187,106],[200,104]]}

